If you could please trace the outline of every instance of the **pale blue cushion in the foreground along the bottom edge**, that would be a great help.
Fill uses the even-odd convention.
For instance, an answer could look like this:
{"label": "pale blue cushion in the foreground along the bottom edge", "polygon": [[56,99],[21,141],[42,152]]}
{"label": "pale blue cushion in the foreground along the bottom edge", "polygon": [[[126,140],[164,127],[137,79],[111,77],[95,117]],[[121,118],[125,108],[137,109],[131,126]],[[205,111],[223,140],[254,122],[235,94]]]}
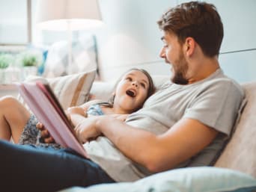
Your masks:
{"label": "pale blue cushion in the foreground along the bottom edge", "polygon": [[217,167],[170,170],[137,182],[70,188],[61,192],[246,192],[256,190],[256,179],[244,173]]}

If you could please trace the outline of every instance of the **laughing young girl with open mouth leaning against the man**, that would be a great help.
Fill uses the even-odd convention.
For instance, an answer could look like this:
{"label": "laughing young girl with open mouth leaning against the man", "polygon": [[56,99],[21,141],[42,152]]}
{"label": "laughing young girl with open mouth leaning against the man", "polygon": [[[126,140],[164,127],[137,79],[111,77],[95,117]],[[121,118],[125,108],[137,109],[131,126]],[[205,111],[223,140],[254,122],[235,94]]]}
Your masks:
{"label": "laughing young girl with open mouth leaning against the man", "polygon": [[[131,114],[142,107],[144,101],[153,94],[155,87],[153,80],[144,69],[129,69],[115,86],[115,92],[109,102],[93,100],[79,107],[67,109],[67,116],[71,123],[78,124],[79,115]],[[40,131],[36,128],[37,119],[13,97],[4,97],[0,100],[0,139],[10,140],[14,143],[35,144],[37,146],[52,146],[60,148],[56,143],[43,143],[40,141]],[[15,110],[13,110],[15,109]],[[126,116],[118,116],[125,120]],[[40,128],[40,123],[37,125]],[[46,134],[46,131],[44,131]]]}

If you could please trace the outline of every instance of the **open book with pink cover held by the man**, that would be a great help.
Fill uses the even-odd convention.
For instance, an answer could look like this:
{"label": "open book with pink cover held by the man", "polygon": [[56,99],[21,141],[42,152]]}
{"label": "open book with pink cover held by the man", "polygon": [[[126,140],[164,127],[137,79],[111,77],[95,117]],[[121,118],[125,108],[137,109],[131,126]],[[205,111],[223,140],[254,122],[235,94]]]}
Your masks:
{"label": "open book with pink cover held by the man", "polygon": [[67,119],[58,99],[49,84],[41,81],[17,84],[19,93],[37,117],[37,120],[48,129],[56,143],[70,147],[85,158],[88,157],[82,144],[76,139],[73,126]]}

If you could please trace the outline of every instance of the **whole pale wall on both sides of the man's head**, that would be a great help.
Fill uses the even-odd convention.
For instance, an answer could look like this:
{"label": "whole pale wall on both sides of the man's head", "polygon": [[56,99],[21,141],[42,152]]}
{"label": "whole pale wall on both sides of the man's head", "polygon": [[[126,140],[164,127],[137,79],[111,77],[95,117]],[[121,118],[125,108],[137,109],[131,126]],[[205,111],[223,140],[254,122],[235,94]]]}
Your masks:
{"label": "whole pale wall on both sides of the man's head", "polygon": [[[169,75],[170,66],[159,58],[161,32],[156,21],[162,13],[183,1],[99,0],[104,28],[95,31],[103,80],[118,78],[137,66],[152,75]],[[256,1],[211,0],[225,26],[222,54],[225,73],[239,82],[256,80]],[[246,49],[255,49],[246,51]]]}

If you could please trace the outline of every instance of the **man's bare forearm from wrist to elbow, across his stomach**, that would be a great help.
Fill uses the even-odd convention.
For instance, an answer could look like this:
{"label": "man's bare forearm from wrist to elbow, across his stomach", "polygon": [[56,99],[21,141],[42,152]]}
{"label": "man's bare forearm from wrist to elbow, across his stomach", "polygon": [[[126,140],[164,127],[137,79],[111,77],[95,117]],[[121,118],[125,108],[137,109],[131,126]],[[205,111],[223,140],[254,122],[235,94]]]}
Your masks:
{"label": "man's bare forearm from wrist to elbow, across his stomach", "polygon": [[134,128],[115,118],[102,117],[97,121],[97,128],[132,161],[150,169],[154,147],[159,147],[157,137],[149,131]]}

